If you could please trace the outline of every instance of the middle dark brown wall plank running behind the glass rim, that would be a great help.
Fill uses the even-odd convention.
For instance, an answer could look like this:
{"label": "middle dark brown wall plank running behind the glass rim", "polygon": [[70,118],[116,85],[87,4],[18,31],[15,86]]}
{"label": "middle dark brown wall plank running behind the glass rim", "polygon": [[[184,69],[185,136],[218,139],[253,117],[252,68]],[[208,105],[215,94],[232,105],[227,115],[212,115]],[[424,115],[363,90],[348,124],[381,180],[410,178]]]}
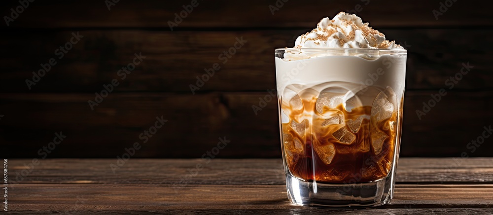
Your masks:
{"label": "middle dark brown wall plank running behind the glass rim", "polygon": [[[62,59],[55,55],[71,38],[72,31],[7,31],[0,35],[3,92],[87,92],[104,90],[117,79],[114,92],[192,93],[204,69],[218,63],[220,69],[197,90],[265,91],[275,88],[274,49],[289,47],[306,30],[266,31],[79,31],[84,37]],[[398,29],[385,30],[388,38],[410,47],[407,89],[449,89],[446,80],[460,72],[462,63],[472,70],[453,90],[492,89],[492,49],[483,41],[493,30]],[[247,40],[228,61],[221,53],[236,38]],[[170,42],[173,41],[173,42]],[[451,49],[450,47],[454,47]],[[142,53],[145,59],[125,79],[118,70]],[[28,88],[33,72],[55,58],[57,64],[37,84]],[[220,59],[219,59],[220,58]],[[451,82],[452,83],[452,82]]]}

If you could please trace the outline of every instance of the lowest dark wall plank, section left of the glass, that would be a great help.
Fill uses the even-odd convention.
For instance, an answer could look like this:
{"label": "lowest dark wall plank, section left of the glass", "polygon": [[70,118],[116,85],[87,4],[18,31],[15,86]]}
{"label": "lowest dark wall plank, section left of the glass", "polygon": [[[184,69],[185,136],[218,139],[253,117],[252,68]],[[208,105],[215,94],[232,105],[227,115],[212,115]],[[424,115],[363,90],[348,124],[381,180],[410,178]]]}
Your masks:
{"label": "lowest dark wall plank, section left of the glass", "polygon": [[[271,124],[262,124],[265,121],[255,117],[251,108],[255,102],[258,104],[255,100],[263,96],[262,93],[247,97],[242,97],[241,93],[149,95],[114,93],[94,111],[87,102],[94,99],[89,94],[26,94],[27,100],[19,94],[0,96],[5,98],[1,100],[1,110],[5,116],[10,115],[3,117],[0,125],[2,142],[10,149],[1,153],[15,157],[22,153],[20,149],[24,149],[22,154],[38,156],[36,152],[40,147],[52,141],[55,132],[62,131],[68,137],[49,154],[52,158],[76,154],[116,157],[135,142],[142,146],[135,154],[137,157],[201,157],[217,145],[219,138],[231,143],[218,156],[280,154],[280,145],[272,142],[279,140],[274,109],[270,110]],[[275,103],[271,103],[275,107]],[[154,126],[156,117],[168,122],[151,137],[143,138],[141,133]],[[28,118],[33,123],[22,122]],[[252,124],[255,124],[254,128]],[[23,134],[16,133],[21,130]],[[22,144],[18,142],[19,137],[24,139]],[[253,147],[255,153],[242,152],[245,144]]]}

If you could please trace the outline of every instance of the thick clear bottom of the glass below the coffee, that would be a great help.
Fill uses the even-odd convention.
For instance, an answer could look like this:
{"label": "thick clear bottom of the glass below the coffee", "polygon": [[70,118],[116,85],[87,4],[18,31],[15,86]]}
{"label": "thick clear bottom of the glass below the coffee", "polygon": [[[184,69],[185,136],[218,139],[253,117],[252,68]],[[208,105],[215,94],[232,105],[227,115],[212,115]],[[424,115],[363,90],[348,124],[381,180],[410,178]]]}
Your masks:
{"label": "thick clear bottom of the glass below the coffee", "polygon": [[287,195],[291,202],[303,206],[374,207],[387,204],[393,196],[395,170],[387,177],[370,183],[327,184],[305,182],[289,171],[286,174]]}

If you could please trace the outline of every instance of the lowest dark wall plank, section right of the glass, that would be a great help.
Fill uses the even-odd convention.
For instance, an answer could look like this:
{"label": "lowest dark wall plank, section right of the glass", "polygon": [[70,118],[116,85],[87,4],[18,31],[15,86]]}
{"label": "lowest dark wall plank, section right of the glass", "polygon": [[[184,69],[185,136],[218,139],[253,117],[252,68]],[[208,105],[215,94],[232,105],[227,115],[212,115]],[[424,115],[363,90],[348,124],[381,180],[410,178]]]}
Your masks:
{"label": "lowest dark wall plank, section right of the glass", "polygon": [[[489,147],[486,144],[492,145],[493,139],[486,138],[486,144],[471,148],[471,141],[476,141],[483,135],[485,126],[487,128],[492,126],[493,112],[486,110],[476,112],[474,107],[477,105],[491,110],[493,108],[491,92],[449,91],[426,115],[418,117],[416,111],[426,110],[423,108],[423,102],[433,104],[430,102],[432,99],[430,95],[436,93],[438,91],[413,92],[405,95],[407,105],[404,107],[401,154],[409,156],[413,151],[412,154],[415,155],[411,156],[420,157],[459,157],[461,154],[492,156],[491,151],[482,151]],[[476,102],[466,101],[467,99]]]}

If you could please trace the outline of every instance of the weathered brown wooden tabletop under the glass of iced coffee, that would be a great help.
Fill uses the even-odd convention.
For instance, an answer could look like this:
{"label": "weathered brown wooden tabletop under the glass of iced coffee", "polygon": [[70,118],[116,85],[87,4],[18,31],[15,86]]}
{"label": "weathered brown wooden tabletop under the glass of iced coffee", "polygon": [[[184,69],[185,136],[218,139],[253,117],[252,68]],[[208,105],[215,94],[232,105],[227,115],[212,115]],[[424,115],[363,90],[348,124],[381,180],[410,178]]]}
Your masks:
{"label": "weathered brown wooden tabletop under the glass of iced coffee", "polygon": [[114,173],[116,159],[30,163],[8,160],[11,214],[493,213],[493,158],[401,158],[391,203],[345,210],[291,204],[281,159],[131,158]]}

